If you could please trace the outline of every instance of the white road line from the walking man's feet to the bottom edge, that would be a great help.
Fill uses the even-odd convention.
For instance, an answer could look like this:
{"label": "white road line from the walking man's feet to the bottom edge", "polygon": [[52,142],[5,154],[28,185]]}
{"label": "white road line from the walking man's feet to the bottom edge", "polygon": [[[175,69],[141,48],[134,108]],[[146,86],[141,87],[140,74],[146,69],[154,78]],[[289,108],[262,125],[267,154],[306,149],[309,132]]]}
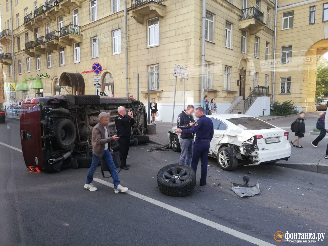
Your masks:
{"label": "white road line from the walking man's feet to the bottom edge", "polygon": [[[104,185],[106,185],[106,186],[109,186],[109,187],[114,188],[114,185],[113,185],[112,183],[107,182],[107,181],[104,181],[104,180],[102,180],[102,179],[94,178],[93,181],[96,181],[96,182],[98,182],[98,183],[101,183],[101,184],[104,184]],[[261,239],[258,239],[258,238],[253,237],[253,236],[249,236],[249,235],[244,234],[244,233],[242,233],[242,232],[238,232],[238,231],[236,231],[236,230],[234,230],[234,229],[231,229],[231,228],[229,228],[229,227],[226,227],[226,226],[220,225],[220,224],[215,223],[215,222],[213,222],[213,221],[211,221],[211,220],[204,219],[204,218],[202,218],[202,217],[200,217],[200,216],[197,216],[197,215],[191,214],[191,213],[186,212],[186,211],[184,211],[184,210],[178,209],[178,208],[173,207],[173,206],[171,206],[171,205],[169,205],[169,204],[166,204],[166,203],[164,203],[164,202],[157,201],[157,200],[155,200],[155,199],[153,199],[153,198],[150,198],[150,197],[148,197],[148,196],[141,195],[141,194],[139,194],[139,193],[136,193],[136,192],[133,192],[133,191],[130,191],[130,190],[128,190],[128,191],[125,192],[125,193],[128,193],[128,194],[130,194],[130,195],[133,195],[133,196],[135,196],[135,197],[137,197],[137,198],[139,198],[139,199],[141,199],[141,200],[144,200],[144,201],[150,202],[150,203],[152,203],[152,204],[154,204],[154,205],[157,205],[157,206],[159,206],[159,207],[161,207],[161,208],[164,208],[164,209],[170,210],[170,211],[172,211],[172,212],[174,212],[174,213],[176,213],[176,214],[179,214],[179,215],[185,216],[185,217],[187,217],[187,218],[190,218],[190,219],[192,219],[192,220],[195,220],[195,221],[197,221],[197,222],[200,222],[200,223],[202,223],[202,224],[204,224],[204,225],[207,225],[207,226],[213,227],[213,228],[215,228],[215,229],[217,229],[217,230],[219,230],[219,231],[221,231],[221,232],[225,232],[225,233],[228,233],[228,234],[230,234],[230,235],[232,235],[232,236],[235,236],[235,237],[238,237],[238,238],[243,239],[243,240],[245,240],[245,241],[251,242],[251,243],[253,243],[253,244],[255,244],[255,245],[258,245],[258,246],[275,246],[274,244],[271,244],[271,243],[265,242],[265,241],[263,241],[263,240],[261,240]]]}

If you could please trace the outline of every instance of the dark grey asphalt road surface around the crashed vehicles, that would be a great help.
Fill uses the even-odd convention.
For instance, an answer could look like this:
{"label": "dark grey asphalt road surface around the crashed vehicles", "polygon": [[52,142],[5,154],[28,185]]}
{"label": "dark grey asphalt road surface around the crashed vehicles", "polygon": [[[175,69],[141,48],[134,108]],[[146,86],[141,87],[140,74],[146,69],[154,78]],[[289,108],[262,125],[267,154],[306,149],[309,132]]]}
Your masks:
{"label": "dark grey asphalt road surface around the crashed vehicles", "polygon": [[[19,137],[18,121],[9,119],[0,125],[1,143],[21,149]],[[274,245],[327,245],[328,238],[316,243],[274,240],[277,231],[327,233],[326,174],[271,165],[225,172],[210,158],[205,187],[199,187],[197,175],[198,188],[191,195],[170,197],[158,190],[156,174],[164,165],[176,163],[179,153],[148,152],[153,146],[130,148],[131,168],[119,173],[123,186]],[[0,153],[1,246],[260,245],[140,197],[115,194],[113,188],[97,181],[98,191],[87,191],[83,188],[87,169],[34,172],[25,167],[21,152],[0,144]],[[242,182],[246,174],[261,192],[239,198],[230,190],[231,182]],[[100,167],[94,177],[103,179]],[[103,180],[112,183],[111,178]]]}

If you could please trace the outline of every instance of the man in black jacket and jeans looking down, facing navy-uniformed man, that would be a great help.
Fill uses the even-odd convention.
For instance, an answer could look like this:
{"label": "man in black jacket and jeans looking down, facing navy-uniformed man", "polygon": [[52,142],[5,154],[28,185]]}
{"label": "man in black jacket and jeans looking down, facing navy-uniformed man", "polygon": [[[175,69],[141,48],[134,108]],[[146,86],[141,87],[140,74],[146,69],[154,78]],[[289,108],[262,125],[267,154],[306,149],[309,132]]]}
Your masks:
{"label": "man in black jacket and jeans looking down, facing navy-uniformed man", "polygon": [[[195,120],[193,118],[194,106],[188,105],[187,109],[183,110],[177,120],[177,128],[179,129],[189,129],[195,125]],[[190,166],[191,159],[193,158],[193,147],[194,147],[194,133],[181,133],[180,134],[180,164],[185,164]]]}

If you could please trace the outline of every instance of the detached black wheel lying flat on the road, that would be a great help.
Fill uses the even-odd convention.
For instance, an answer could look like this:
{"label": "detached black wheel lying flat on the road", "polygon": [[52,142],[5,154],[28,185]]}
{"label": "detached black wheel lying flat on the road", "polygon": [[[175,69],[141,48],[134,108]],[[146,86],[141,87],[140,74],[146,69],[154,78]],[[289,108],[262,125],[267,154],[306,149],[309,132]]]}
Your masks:
{"label": "detached black wheel lying flat on the road", "polygon": [[[181,177],[179,177],[182,174]],[[170,178],[170,177],[175,178]],[[163,167],[157,174],[158,189],[165,195],[169,196],[186,196],[189,195],[196,186],[195,171],[182,164],[171,164]]]}

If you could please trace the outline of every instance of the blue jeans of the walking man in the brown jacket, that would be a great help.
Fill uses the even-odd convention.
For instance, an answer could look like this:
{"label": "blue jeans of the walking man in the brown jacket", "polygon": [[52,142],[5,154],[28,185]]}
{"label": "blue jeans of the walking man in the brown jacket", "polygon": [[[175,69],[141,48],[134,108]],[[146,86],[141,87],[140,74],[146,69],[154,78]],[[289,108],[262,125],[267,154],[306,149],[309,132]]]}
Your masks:
{"label": "blue jeans of the walking man in the brown jacket", "polygon": [[116,166],[115,163],[113,162],[112,154],[109,151],[109,149],[105,150],[103,156],[101,157],[98,157],[92,153],[92,163],[88,171],[87,181],[85,181],[85,183],[90,184],[92,182],[93,174],[96,171],[99,161],[101,161],[101,159],[105,161],[105,163],[109,167],[109,170],[111,170],[112,178],[114,181],[114,189],[117,189],[117,186],[120,184],[120,181],[118,180]]}

